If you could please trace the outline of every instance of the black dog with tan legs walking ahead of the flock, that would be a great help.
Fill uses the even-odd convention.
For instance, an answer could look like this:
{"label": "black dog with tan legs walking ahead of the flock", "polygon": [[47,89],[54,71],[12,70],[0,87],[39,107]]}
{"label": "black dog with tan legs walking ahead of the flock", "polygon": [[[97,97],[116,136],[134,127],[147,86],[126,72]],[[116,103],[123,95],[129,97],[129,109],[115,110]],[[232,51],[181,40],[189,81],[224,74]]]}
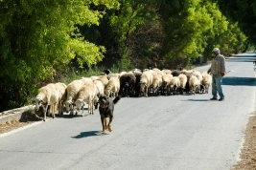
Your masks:
{"label": "black dog with tan legs walking ahead of the flock", "polygon": [[[112,131],[112,121],[114,113],[114,105],[120,100],[119,96],[116,96],[114,99],[105,95],[99,95],[99,111],[101,115],[102,125],[103,125],[103,134],[105,130],[108,129],[109,132]],[[106,124],[106,118],[109,117],[109,122]]]}

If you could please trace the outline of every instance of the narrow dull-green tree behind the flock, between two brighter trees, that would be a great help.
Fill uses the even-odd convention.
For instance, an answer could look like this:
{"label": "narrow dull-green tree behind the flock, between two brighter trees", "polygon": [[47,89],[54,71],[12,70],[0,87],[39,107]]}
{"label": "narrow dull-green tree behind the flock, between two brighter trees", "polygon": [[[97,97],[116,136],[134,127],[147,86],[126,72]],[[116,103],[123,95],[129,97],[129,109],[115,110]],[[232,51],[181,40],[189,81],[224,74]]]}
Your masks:
{"label": "narrow dull-green tree behind the flock, between two brighter trees", "polygon": [[[133,42],[135,43],[138,39],[135,38],[135,40],[134,35],[140,32],[139,28],[143,28],[147,22],[157,18],[156,12],[151,8],[153,4],[156,4],[154,0],[121,0],[120,9],[109,17],[112,32],[116,33],[114,41],[118,44],[118,53],[121,58],[118,64],[125,70],[138,56],[133,46]],[[142,51],[149,51],[149,48],[151,47],[145,46]],[[140,57],[145,58],[144,54]]]}

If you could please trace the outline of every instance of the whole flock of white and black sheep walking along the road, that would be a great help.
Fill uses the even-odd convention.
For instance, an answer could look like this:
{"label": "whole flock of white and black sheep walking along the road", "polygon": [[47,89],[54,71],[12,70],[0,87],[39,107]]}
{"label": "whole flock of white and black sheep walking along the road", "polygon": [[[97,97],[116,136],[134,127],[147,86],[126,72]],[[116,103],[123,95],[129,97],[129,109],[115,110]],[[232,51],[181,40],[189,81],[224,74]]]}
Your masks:
{"label": "whole flock of white and black sheep walking along the road", "polygon": [[158,96],[208,93],[212,84],[212,77],[207,72],[196,70],[138,70],[113,74],[105,70],[99,76],[81,77],[69,83],[50,83],[40,88],[35,97],[35,111],[42,106],[44,117],[52,108],[52,117],[55,117],[55,106],[58,105],[58,114],[63,114],[63,107],[70,115],[77,114],[85,104],[88,104],[88,113],[94,114],[94,106],[98,106],[98,96]]}

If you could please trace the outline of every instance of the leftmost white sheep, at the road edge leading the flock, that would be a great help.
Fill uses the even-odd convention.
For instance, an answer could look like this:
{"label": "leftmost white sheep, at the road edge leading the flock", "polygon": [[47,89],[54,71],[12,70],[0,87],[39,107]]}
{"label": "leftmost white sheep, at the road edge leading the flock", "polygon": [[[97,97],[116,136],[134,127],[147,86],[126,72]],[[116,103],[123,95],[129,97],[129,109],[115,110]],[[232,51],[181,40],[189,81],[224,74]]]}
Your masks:
{"label": "leftmost white sheep, at the road edge leading the flock", "polygon": [[35,97],[35,111],[39,107],[43,108],[43,120],[46,120],[46,112],[48,106],[52,107],[52,115],[55,116],[55,105],[59,101],[58,91],[54,83],[47,84],[40,88],[38,95]]}

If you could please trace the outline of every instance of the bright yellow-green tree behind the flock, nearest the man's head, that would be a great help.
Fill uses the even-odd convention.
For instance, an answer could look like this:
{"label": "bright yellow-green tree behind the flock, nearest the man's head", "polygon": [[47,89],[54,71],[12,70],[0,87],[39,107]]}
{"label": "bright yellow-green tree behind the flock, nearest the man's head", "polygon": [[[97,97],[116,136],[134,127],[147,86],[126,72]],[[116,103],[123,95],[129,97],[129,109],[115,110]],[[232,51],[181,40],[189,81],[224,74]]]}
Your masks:
{"label": "bright yellow-green tree behind the flock, nearest the man's head", "polygon": [[[176,9],[170,11],[172,7]],[[207,39],[214,36],[219,27],[226,30],[226,22],[218,23],[221,12],[208,1],[168,1],[160,13],[166,34],[162,54],[169,60],[186,58],[187,65],[200,56],[207,47]]]}

